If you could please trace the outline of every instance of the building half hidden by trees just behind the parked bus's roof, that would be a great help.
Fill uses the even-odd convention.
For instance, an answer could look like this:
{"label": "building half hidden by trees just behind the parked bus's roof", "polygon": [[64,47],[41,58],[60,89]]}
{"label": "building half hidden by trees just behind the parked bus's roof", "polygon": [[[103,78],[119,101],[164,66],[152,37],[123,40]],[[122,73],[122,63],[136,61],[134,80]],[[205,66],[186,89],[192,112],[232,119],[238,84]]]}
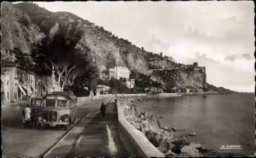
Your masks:
{"label": "building half hidden by trees just behind the parked bus's roof", "polygon": [[37,91],[36,96],[44,96],[49,93],[49,83],[51,82],[51,76],[36,75],[35,76],[35,89]]}

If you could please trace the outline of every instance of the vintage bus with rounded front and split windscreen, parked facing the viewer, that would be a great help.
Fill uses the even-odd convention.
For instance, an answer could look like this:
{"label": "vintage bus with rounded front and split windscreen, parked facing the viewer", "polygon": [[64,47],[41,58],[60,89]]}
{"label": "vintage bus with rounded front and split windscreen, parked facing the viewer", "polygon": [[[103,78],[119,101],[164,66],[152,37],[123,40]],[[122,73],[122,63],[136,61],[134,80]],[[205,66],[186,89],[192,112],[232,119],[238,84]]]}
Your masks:
{"label": "vintage bus with rounded front and split windscreen, parked facing the viewer", "polygon": [[41,126],[68,129],[77,117],[77,97],[64,92],[48,94],[42,97],[41,110],[38,110],[36,116]]}

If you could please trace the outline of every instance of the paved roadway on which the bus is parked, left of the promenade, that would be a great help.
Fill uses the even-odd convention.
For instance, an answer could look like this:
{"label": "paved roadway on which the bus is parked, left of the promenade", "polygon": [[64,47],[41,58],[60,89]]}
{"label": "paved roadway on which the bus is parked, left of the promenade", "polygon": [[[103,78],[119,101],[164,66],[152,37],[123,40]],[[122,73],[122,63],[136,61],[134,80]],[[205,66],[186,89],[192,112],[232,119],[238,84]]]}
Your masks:
{"label": "paved roadway on which the bus is parked, left of the promenade", "polygon": [[[76,122],[89,111],[99,110],[101,102],[108,101],[110,98],[79,106]],[[2,147],[5,157],[37,157],[66,132],[66,130],[56,127],[24,128],[21,119],[23,106],[25,105],[2,108]]]}

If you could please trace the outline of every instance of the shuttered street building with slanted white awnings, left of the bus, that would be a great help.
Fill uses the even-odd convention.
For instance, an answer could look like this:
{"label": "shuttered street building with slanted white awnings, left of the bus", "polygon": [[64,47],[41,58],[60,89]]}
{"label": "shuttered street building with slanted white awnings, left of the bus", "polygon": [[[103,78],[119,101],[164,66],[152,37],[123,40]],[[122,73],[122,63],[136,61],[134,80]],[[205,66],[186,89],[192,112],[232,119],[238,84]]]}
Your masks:
{"label": "shuttered street building with slanted white awnings, left of the bus", "polygon": [[35,74],[15,62],[2,61],[2,71],[10,73],[10,102],[26,100],[36,96]]}

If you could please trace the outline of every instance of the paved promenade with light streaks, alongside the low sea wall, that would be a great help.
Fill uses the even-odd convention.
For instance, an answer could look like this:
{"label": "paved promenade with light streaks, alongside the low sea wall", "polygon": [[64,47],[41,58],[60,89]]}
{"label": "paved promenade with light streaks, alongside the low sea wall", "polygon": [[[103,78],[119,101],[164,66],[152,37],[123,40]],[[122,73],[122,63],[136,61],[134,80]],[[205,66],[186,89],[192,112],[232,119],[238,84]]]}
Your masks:
{"label": "paved promenade with light streaks, alongside the low sea wall", "polygon": [[128,157],[117,130],[114,103],[106,106],[106,118],[90,112],[46,157]]}

